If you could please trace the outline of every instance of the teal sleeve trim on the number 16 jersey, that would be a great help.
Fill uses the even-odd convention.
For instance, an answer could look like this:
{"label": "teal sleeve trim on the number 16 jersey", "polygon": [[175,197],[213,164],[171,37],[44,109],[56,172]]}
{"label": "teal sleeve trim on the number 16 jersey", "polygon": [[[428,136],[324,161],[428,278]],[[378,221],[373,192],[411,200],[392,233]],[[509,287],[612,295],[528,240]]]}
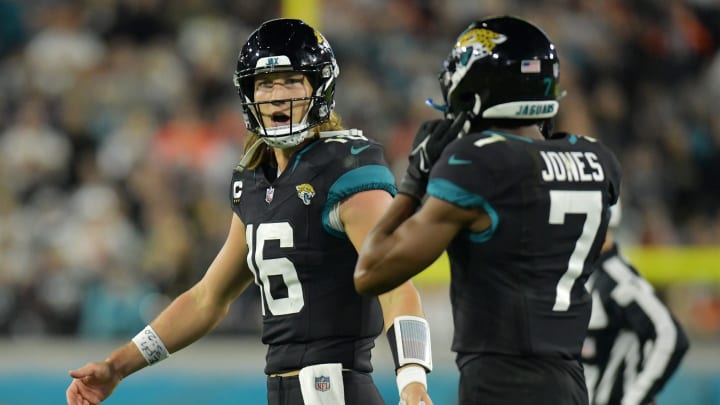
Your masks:
{"label": "teal sleeve trim on the number 16 jersey", "polygon": [[397,193],[395,176],[390,172],[390,169],[382,165],[358,167],[340,176],[330,186],[328,198],[325,201],[325,207],[323,207],[322,223],[325,231],[335,237],[347,239],[344,232],[338,232],[330,227],[330,212],[338,202],[355,193],[367,190],[385,190],[394,197],[395,193]]}

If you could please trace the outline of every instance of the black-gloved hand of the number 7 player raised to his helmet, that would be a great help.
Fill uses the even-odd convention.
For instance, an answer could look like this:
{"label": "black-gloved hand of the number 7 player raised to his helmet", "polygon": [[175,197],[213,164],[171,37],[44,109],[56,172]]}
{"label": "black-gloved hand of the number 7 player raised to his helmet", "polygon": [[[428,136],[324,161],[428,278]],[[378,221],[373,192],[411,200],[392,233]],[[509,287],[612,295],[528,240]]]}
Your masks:
{"label": "black-gloved hand of the number 7 player raised to his helmet", "polygon": [[408,156],[408,168],[400,181],[399,192],[416,198],[425,196],[428,176],[443,149],[455,140],[463,129],[467,113],[461,112],[454,120],[438,119],[425,121],[420,125],[412,150]]}

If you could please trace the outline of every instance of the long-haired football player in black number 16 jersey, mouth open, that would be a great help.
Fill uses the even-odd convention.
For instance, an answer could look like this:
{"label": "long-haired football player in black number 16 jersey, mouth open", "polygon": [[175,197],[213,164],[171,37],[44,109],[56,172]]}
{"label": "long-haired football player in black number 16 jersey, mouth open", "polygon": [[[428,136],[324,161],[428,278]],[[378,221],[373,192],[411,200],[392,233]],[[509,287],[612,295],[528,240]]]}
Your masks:
{"label": "long-haired football player in black number 16 jersey, mouth open", "polygon": [[370,375],[383,330],[401,402],[432,404],[415,287],[400,283],[379,299],[354,288],[357,252],[396,188],[381,146],[343,129],[333,111],[338,73],[326,39],[300,20],[271,20],[250,35],[235,86],[251,134],[229,189],[227,240],[202,280],[132,342],[71,371],[68,403],[98,403],[125,376],[209,333],[254,282],[270,405],[384,404]]}

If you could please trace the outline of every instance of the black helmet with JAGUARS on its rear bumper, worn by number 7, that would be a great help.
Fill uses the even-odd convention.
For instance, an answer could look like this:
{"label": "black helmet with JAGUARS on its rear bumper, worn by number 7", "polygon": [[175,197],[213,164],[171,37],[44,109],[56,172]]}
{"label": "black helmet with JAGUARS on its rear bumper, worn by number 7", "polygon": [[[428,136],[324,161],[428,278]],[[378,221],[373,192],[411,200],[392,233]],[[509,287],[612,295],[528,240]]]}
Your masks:
{"label": "black helmet with JAGUARS on its rear bumper, worn by number 7", "polygon": [[544,122],[558,111],[560,61],[533,24],[510,16],[471,23],[443,62],[447,118]]}

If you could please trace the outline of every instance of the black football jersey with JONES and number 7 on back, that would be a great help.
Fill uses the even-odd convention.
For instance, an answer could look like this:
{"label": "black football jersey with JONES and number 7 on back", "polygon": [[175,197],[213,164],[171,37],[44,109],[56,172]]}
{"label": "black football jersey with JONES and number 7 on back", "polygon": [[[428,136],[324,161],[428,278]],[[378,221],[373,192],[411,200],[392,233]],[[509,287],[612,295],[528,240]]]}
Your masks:
{"label": "black football jersey with JONES and number 7 on back", "polygon": [[579,358],[591,311],[583,285],[619,177],[607,148],[576,135],[484,131],[448,145],[428,194],[492,221],[447,249],[458,362],[478,353]]}

